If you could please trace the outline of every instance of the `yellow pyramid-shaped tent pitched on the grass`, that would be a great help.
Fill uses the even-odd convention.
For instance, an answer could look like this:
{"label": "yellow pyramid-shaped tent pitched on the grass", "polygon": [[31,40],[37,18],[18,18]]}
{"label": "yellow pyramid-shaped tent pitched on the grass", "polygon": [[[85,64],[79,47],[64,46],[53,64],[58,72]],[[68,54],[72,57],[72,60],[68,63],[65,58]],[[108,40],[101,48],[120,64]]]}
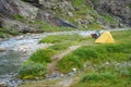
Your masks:
{"label": "yellow pyramid-shaped tent pitched on the grass", "polygon": [[105,32],[95,40],[95,42],[110,44],[110,42],[115,42],[115,39],[112,38],[109,32]]}

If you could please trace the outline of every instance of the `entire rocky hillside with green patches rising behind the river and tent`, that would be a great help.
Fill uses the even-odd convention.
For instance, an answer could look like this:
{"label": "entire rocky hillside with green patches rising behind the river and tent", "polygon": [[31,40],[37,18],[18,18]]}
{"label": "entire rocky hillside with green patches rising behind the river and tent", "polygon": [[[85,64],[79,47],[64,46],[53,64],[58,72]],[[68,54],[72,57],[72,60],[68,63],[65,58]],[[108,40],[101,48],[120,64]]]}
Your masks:
{"label": "entire rocky hillside with green patches rising behind the river and tent", "polygon": [[100,29],[124,25],[131,26],[130,0],[0,0],[0,28],[5,29],[1,33],[34,33],[53,26]]}

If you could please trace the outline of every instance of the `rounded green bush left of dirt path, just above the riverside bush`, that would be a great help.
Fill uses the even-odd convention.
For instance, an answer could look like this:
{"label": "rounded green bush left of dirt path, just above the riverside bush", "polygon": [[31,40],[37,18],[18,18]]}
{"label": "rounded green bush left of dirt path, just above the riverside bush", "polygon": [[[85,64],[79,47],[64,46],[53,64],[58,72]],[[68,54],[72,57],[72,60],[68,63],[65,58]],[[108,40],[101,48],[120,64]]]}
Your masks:
{"label": "rounded green bush left of dirt path, just above the riverside bush", "polygon": [[48,63],[48,62],[51,62],[50,57],[52,53],[53,53],[53,50],[39,49],[29,57],[29,60],[34,62],[39,62],[39,63]]}

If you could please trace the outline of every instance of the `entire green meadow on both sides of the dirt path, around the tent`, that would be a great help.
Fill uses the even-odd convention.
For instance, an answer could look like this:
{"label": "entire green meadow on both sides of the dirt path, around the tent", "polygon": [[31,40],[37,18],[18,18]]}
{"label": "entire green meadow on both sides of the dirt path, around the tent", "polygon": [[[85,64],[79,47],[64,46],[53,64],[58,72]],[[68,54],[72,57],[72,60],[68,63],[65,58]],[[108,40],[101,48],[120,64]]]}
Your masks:
{"label": "entire green meadow on both sides of the dirt path, around the tent", "polygon": [[39,42],[52,46],[33,53],[20,69],[20,77],[43,77],[48,73],[47,64],[53,61],[51,57],[81,45],[56,65],[63,74],[78,70],[78,79],[70,87],[131,87],[131,30],[111,32],[111,35],[116,44],[94,44],[95,39],[80,35],[47,36]]}

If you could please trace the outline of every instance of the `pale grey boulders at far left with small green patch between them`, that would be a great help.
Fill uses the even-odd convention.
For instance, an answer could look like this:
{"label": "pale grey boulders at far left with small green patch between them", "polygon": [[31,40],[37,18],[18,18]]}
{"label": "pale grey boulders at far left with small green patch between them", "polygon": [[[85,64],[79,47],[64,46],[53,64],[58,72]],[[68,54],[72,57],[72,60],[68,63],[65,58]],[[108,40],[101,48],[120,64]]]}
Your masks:
{"label": "pale grey boulders at far left with small green patch between them", "polygon": [[35,32],[35,28],[24,22],[19,21],[20,17],[25,21],[33,21],[37,15],[38,9],[24,3],[20,0],[1,0],[0,1],[0,24],[1,27],[13,29],[21,33]]}

